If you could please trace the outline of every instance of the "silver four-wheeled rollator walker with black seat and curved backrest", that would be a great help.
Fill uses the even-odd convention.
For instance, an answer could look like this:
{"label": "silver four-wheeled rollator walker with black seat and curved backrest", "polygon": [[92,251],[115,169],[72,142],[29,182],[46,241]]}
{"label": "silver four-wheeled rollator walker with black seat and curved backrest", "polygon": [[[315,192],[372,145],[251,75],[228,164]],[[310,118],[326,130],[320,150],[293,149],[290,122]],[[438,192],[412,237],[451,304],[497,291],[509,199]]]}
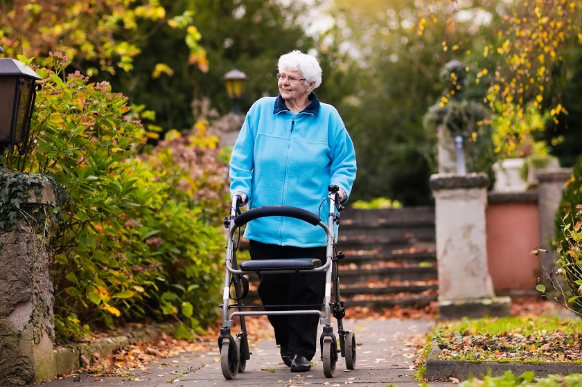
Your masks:
{"label": "silver four-wheeled rollator walker with black seat and curved backrest", "polygon": [[[340,188],[338,186],[328,186],[329,213],[328,224],[321,222],[319,215],[303,210],[302,208],[291,206],[263,206],[247,210],[241,213],[239,209],[240,197],[235,196],[231,202],[230,216],[224,219],[224,226],[229,228],[227,242],[226,269],[224,271],[224,292],[222,295],[222,329],[218,336],[218,348],[220,349],[220,368],[222,375],[226,379],[235,379],[238,372],[244,372],[247,360],[250,359],[249,342],[247,339],[247,329],[245,316],[264,315],[291,315],[291,314],[317,314],[319,322],[323,327],[323,333],[319,338],[321,346],[321,361],[323,363],[324,375],[333,377],[335,363],[338,353],[346,359],[346,368],[355,368],[356,342],[355,334],[352,331],[344,330],[342,319],[346,315],[344,301],[340,300],[340,282],[337,276],[338,261],[344,258],[344,253],[337,253],[337,237],[335,224],[340,224],[339,212],[344,209],[339,199]],[[325,208],[322,203],[320,208]],[[337,211],[336,211],[337,210]],[[254,219],[270,216],[283,216],[301,219],[312,226],[319,226],[324,229],[327,235],[326,263],[315,258],[297,259],[268,259],[268,260],[247,260],[240,265],[236,261],[237,242],[235,231],[251,222]],[[240,232],[239,232],[240,235]],[[326,273],[326,285],[324,303],[316,306],[317,309],[299,309],[302,305],[269,305],[269,308],[287,308],[286,310],[265,310],[263,306],[243,305],[243,298],[248,292],[248,280],[245,275],[249,273],[269,274],[269,273],[312,273],[324,271]],[[333,301],[332,301],[333,284]],[[235,296],[231,297],[231,286],[234,288]],[[232,302],[232,303],[231,303]],[[306,305],[303,305],[306,307]],[[231,312],[235,309],[235,312]],[[248,310],[252,309],[252,310]],[[323,312],[322,312],[323,309]],[[337,320],[337,334],[340,339],[340,349],[337,349],[337,339],[333,334],[331,326],[331,315]],[[240,332],[232,336],[231,329],[234,325],[233,318],[240,319]]]}

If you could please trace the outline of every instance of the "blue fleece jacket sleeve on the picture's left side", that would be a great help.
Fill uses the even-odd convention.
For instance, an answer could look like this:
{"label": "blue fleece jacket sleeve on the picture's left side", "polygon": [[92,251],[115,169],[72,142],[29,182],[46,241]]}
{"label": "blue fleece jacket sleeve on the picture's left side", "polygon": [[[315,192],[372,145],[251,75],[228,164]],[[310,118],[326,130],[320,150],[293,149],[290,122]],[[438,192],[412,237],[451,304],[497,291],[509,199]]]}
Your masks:
{"label": "blue fleece jacket sleeve on the picture's left side", "polygon": [[247,115],[231,154],[229,170],[231,195],[234,192],[243,192],[247,197],[251,197],[254,168],[253,154],[254,136],[252,134],[249,116]]}

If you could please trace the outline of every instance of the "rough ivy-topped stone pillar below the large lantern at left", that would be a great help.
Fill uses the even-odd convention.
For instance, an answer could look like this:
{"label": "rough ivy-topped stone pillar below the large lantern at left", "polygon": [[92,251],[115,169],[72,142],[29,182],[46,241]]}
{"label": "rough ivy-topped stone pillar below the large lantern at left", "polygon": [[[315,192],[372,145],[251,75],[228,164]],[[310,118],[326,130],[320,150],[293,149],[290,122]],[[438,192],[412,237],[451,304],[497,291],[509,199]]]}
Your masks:
{"label": "rough ivy-topped stone pillar below the large lantern at left", "polygon": [[[33,204],[21,209],[55,205],[48,181],[42,190],[28,189]],[[50,246],[38,236],[42,228],[27,217],[0,232],[0,385],[40,384],[56,376]]]}

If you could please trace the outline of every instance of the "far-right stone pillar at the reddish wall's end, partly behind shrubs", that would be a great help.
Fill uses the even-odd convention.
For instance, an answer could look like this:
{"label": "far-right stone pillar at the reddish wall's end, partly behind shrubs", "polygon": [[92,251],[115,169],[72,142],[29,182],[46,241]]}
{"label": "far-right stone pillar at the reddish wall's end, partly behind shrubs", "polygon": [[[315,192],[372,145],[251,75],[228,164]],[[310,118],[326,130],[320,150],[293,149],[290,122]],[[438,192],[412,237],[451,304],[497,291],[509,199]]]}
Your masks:
{"label": "far-right stone pillar at the reddish wall's end, partly behind shrubs", "polygon": [[560,206],[562,199],[562,191],[565,188],[565,182],[572,175],[572,168],[553,168],[542,169],[536,173],[538,180],[538,211],[540,217],[540,248],[547,250],[546,253],[541,253],[540,268],[542,276],[540,281],[546,287],[552,286],[547,278],[545,278],[547,271],[552,271],[554,263],[558,259],[558,252],[552,246],[552,241],[555,235],[555,221],[556,212]]}

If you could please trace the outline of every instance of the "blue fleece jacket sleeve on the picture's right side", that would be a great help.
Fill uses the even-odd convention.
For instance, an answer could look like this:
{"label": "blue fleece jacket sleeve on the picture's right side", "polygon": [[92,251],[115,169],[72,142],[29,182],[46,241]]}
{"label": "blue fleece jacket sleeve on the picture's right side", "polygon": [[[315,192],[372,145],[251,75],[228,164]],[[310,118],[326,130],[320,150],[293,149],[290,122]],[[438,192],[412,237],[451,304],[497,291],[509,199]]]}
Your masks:
{"label": "blue fleece jacket sleeve on the picture's right side", "polygon": [[343,188],[349,198],[355,180],[356,163],[353,142],[345,127],[337,132],[331,145],[330,183]]}

